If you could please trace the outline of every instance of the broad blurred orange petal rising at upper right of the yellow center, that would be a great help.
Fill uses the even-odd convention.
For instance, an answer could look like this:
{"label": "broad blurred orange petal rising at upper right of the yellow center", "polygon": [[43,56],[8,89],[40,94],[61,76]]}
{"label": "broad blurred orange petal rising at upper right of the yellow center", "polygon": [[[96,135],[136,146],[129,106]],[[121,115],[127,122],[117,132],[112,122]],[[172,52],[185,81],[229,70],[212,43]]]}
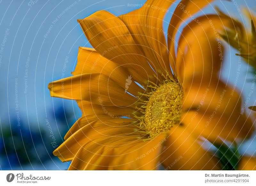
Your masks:
{"label": "broad blurred orange petal rising at upper right of the yellow center", "polygon": [[181,33],[175,62],[176,74],[185,88],[191,82],[200,84],[218,79],[220,65],[223,62],[223,41],[218,31],[224,27],[224,19],[217,15],[197,18],[188,24]]}

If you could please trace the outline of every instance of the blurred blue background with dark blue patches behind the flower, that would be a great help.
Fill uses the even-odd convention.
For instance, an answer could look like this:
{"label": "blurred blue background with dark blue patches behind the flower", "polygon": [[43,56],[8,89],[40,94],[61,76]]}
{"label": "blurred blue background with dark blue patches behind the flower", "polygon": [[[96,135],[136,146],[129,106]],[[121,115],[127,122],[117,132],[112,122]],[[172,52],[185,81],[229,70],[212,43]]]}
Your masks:
{"label": "blurred blue background with dark blue patches behind the flower", "polygon": [[[91,47],[76,19],[98,10],[121,15],[139,8],[132,4],[143,3],[145,0],[0,1],[0,170],[68,168],[69,163],[62,163],[52,151],[63,142],[81,111],[75,101],[50,97],[47,86],[71,76],[79,46]],[[255,10],[256,1],[217,0],[198,15],[214,13],[214,6],[242,19],[238,8]],[[174,8],[175,4],[166,14],[166,32]],[[242,63],[237,80],[235,53],[235,49],[227,46],[221,78],[231,87],[236,85],[246,100],[255,72]],[[255,100],[254,92],[248,106],[255,105]],[[255,154],[255,147],[253,135],[239,151],[251,155]]]}

